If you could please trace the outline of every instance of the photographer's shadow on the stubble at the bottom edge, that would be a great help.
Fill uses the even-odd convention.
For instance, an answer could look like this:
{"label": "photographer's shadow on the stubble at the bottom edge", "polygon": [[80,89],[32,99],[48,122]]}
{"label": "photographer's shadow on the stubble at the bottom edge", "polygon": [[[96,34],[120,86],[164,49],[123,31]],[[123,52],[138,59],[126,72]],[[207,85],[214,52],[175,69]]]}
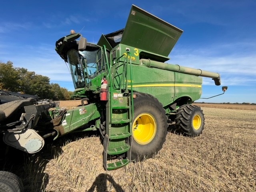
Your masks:
{"label": "photographer's shadow on the stubble at the bottom edge", "polygon": [[92,186],[90,187],[90,189],[86,190],[86,192],[94,192],[95,188],[97,192],[108,191],[107,181],[110,182],[111,186],[114,188],[114,191],[124,192],[122,187],[114,181],[112,176],[104,173],[99,174],[95,178]]}

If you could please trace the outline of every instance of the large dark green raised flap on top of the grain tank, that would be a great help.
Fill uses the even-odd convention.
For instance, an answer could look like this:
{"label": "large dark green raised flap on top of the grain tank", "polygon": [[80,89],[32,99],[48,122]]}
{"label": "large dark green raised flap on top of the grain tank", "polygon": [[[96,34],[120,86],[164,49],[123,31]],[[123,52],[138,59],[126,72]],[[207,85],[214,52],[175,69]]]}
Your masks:
{"label": "large dark green raised flap on top of the grain tank", "polygon": [[168,56],[182,32],[179,28],[132,5],[121,44]]}

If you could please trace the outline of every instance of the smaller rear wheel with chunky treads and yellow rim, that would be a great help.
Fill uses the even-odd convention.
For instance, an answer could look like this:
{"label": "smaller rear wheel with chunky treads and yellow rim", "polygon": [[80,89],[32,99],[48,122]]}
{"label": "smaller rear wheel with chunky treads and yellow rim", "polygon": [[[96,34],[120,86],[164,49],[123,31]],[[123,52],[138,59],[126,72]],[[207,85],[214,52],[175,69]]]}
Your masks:
{"label": "smaller rear wheel with chunky treads and yellow rim", "polygon": [[199,136],[204,130],[204,114],[198,106],[185,105],[180,107],[175,121],[177,130],[187,136]]}

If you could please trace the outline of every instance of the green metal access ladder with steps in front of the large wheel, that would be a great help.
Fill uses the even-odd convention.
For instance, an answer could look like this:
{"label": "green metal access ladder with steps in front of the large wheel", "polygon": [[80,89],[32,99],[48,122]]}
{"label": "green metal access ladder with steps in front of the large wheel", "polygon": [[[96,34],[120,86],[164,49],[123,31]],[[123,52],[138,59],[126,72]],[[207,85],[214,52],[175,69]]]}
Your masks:
{"label": "green metal access ladder with steps in front of the large wheel", "polygon": [[[105,47],[104,50],[106,50]],[[127,50],[128,54],[130,52]],[[110,77],[110,73],[108,73],[106,135],[103,140],[103,166],[105,170],[121,168],[131,160],[133,98],[132,82],[130,92],[127,89],[128,63],[128,59],[125,58],[124,61],[117,62],[112,66],[113,77]],[[130,60],[130,80],[132,80],[131,66]],[[108,63],[106,69],[110,72]]]}

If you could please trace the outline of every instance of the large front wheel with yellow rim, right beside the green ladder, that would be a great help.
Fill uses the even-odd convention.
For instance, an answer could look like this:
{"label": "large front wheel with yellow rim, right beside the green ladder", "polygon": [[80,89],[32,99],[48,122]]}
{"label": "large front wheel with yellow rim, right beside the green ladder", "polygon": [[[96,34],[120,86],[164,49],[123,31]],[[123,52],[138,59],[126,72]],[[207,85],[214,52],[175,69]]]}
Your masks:
{"label": "large front wheel with yellow rim, right beside the green ladder", "polygon": [[162,104],[151,95],[136,93],[132,120],[132,160],[151,158],[162,148],[167,134]]}

